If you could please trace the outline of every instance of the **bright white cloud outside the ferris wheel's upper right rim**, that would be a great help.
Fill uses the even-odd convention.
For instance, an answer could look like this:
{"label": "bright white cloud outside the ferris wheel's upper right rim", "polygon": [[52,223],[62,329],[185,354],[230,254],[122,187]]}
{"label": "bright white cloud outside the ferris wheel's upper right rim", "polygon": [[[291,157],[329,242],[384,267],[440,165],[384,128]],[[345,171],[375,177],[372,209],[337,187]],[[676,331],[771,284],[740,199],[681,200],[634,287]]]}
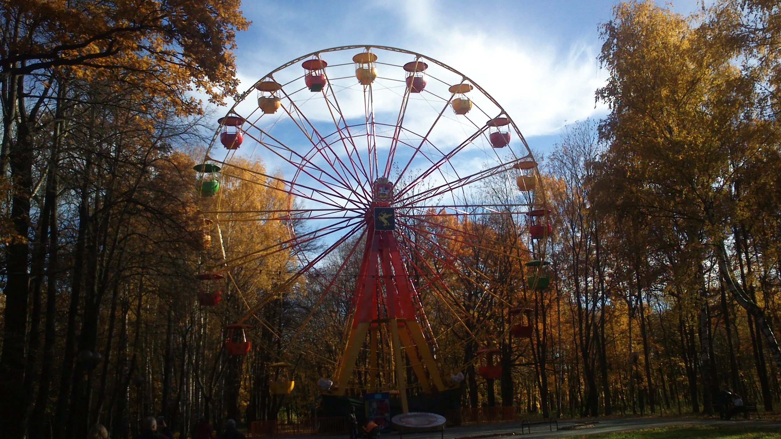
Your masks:
{"label": "bright white cloud outside the ferris wheel's upper right rim", "polygon": [[575,42],[562,50],[547,41],[492,33],[463,17],[448,16],[451,10],[444,2],[405,0],[402,8],[385,2],[376,5],[384,5],[388,12],[401,10],[408,19],[404,35],[415,46],[412,50],[445,62],[480,84],[526,137],[552,134],[565,121],[607,111],[594,102],[594,91],[607,79],[597,64],[597,41]]}

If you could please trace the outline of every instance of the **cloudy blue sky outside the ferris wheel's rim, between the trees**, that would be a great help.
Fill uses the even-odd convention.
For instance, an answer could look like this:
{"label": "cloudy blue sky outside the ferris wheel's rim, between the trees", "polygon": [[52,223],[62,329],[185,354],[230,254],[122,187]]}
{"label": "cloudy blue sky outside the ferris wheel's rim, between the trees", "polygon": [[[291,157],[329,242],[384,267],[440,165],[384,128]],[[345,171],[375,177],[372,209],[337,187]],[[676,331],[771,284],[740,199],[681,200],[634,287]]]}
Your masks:
{"label": "cloudy blue sky outside the ferris wheel's rim, between the trees", "polygon": [[[385,45],[419,52],[475,80],[515,120],[533,151],[546,154],[567,123],[601,118],[597,55],[610,0],[492,2],[402,0],[244,1],[251,20],[237,34],[241,90],[309,52]],[[688,14],[697,0],[670,2]],[[216,114],[226,109],[216,109]]]}

